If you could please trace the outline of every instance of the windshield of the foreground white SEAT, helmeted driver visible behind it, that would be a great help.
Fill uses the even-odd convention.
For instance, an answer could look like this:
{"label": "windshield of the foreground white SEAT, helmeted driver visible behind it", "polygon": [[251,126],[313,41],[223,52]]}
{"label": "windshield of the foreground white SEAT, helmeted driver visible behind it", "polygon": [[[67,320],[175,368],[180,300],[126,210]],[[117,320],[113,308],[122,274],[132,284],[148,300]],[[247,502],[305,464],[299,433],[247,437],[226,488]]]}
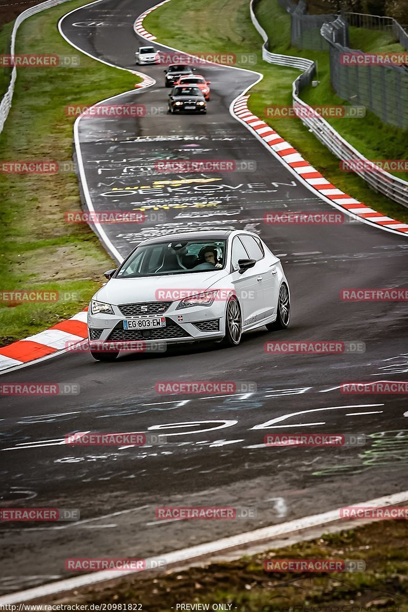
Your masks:
{"label": "windshield of the foreground white SEAT, helmeted driver visible behind it", "polygon": [[177,238],[137,247],[116,278],[210,272],[225,265],[224,240],[180,241]]}

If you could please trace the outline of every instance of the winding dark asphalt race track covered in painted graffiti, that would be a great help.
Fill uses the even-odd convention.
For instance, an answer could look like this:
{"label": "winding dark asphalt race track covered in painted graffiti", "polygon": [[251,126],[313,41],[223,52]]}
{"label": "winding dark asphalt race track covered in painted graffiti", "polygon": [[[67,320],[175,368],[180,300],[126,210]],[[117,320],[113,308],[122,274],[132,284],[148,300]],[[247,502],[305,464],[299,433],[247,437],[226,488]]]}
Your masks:
{"label": "winding dark asphalt race track covered in painted graffiti", "polygon": [[[146,116],[80,121],[95,210],[165,214],[158,222],[105,226],[121,256],[157,232],[255,231],[284,264],[292,293],[291,326],[275,334],[265,328],[252,332],[232,349],[186,345],[121,357],[113,364],[94,362],[87,353],[67,353],[3,375],[3,383],[80,385],[78,395],[2,397],[0,449],[1,480],[7,482],[3,506],[78,508],[81,520],[2,524],[1,547],[9,559],[0,578],[2,594],[70,577],[64,569],[69,557],[160,556],[407,488],[404,395],[345,395],[338,389],[344,381],[406,379],[406,303],[339,297],[343,288],[402,288],[406,238],[360,222],[266,225],[265,212],[333,208],[229,113],[232,100],[257,75],[207,65],[197,70],[212,81],[206,115],[157,110],[168,99],[163,66],[133,63],[138,47],[133,22],[153,4],[103,0],[61,23],[77,47],[157,81],[146,91],[135,89],[114,100],[143,104]],[[254,160],[256,172],[203,177],[155,170],[157,160],[194,156]],[[199,181],[203,178],[209,180]],[[366,351],[279,356],[265,353],[268,340],[360,341]],[[247,381],[257,390],[215,397],[155,391],[159,381],[197,380]],[[168,436],[161,446],[64,444],[73,431],[155,433],[159,427]],[[362,433],[368,441],[362,448],[262,444],[266,433],[303,432]],[[157,521],[156,506],[251,507],[258,517]]]}

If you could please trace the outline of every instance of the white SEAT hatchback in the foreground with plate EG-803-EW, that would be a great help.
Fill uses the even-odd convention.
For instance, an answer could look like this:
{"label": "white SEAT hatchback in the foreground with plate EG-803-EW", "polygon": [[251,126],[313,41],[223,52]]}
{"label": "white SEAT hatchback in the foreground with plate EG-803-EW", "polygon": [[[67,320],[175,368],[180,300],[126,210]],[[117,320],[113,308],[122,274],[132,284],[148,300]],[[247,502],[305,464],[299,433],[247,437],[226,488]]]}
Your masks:
{"label": "white SEAT hatchback in the foreground with plate EG-803-EW", "polygon": [[87,318],[97,360],[115,359],[132,341],[234,346],[243,332],[285,329],[291,317],[280,259],[247,231],[151,238],[105,276]]}

